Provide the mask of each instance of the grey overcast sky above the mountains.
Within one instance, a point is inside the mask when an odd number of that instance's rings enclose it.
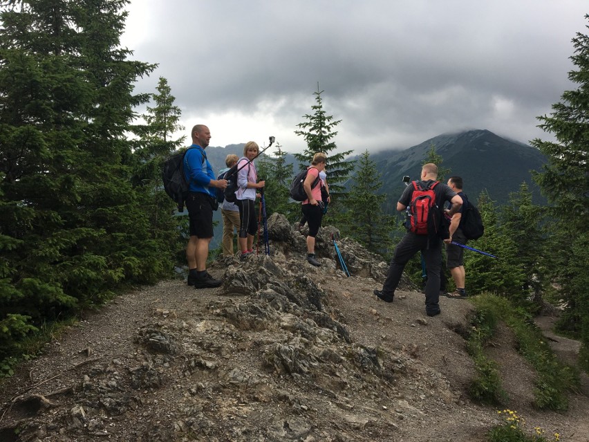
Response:
[[[159,64],[182,122],[212,146],[276,137],[290,153],[317,83],[340,151],[489,129],[521,142],[573,89],[587,0],[131,0],[122,46]],[[182,133],[183,134],[183,133]],[[178,134],[180,136],[180,133]]]

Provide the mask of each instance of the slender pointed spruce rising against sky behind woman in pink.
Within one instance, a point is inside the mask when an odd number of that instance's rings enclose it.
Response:
[[[317,84],[317,92],[313,93],[317,104],[311,107],[314,113],[303,116],[306,121],[297,125],[300,130],[294,131],[297,135],[302,136],[307,143],[303,154],[294,154],[294,157],[299,160],[299,170],[303,170],[310,165],[313,155],[317,152],[324,152],[327,155],[327,181],[333,201],[337,202],[342,197],[343,184],[354,169],[353,163],[344,160],[352,151],[335,153],[337,145],[335,145],[333,138],[337,135],[337,131],[334,129],[342,120],[334,120],[333,116],[326,114],[323,109],[321,93],[324,91],[319,91],[319,84]]]

